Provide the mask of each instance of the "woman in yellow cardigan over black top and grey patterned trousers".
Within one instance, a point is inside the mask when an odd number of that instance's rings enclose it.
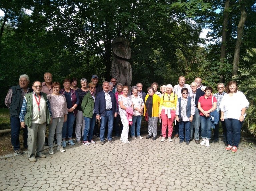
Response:
[[[144,116],[148,113],[148,136],[147,139],[152,137],[152,140],[157,139],[157,121],[158,121],[158,111],[160,104],[160,97],[155,94],[155,90],[152,87],[148,88],[148,94],[145,97],[144,105]]]

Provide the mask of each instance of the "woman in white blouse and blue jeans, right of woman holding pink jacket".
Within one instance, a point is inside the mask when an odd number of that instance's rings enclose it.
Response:
[[[137,138],[142,139],[143,137],[140,135],[140,126],[141,126],[141,119],[142,119],[142,115],[143,115],[144,102],[143,102],[142,97],[140,97],[138,95],[138,87],[137,86],[132,86],[131,92],[132,92],[132,95],[130,96],[130,98],[133,103],[131,137],[133,139],[136,139],[135,124],[137,124],[136,125]]]

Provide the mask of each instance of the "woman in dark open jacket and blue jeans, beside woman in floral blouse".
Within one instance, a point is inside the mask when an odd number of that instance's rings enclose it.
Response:
[[[73,125],[75,122],[76,114],[77,114],[77,106],[79,104],[79,95],[77,91],[70,89],[71,81],[70,79],[65,79],[63,82],[64,88],[60,90],[60,93],[63,94],[67,101],[68,107],[68,115],[67,121],[63,124],[62,127],[62,143],[63,147],[67,146],[67,143],[70,145],[75,145],[72,140],[72,133],[73,133]],[[68,141],[66,142],[66,137],[68,137]]]

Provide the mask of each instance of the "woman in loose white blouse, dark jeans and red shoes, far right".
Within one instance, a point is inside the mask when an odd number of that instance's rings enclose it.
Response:
[[[225,121],[228,146],[226,150],[237,152],[241,137],[241,127],[245,118],[245,111],[249,106],[243,92],[238,91],[235,81],[230,81],[225,88],[227,92],[220,103],[221,121]]]

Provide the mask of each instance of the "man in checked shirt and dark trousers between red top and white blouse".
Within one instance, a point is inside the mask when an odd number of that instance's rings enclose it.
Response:
[[[217,99],[217,111],[219,112],[219,118],[221,116],[220,111],[220,103],[222,101],[222,98],[226,92],[224,92],[225,84],[224,83],[218,83],[217,90],[218,93],[213,94],[214,97]],[[219,120],[218,124],[215,125],[215,128],[213,129],[213,140],[211,143],[217,143],[219,142],[219,123],[221,120]],[[224,121],[221,121],[222,131],[223,131],[223,142],[227,146],[227,129]]]

